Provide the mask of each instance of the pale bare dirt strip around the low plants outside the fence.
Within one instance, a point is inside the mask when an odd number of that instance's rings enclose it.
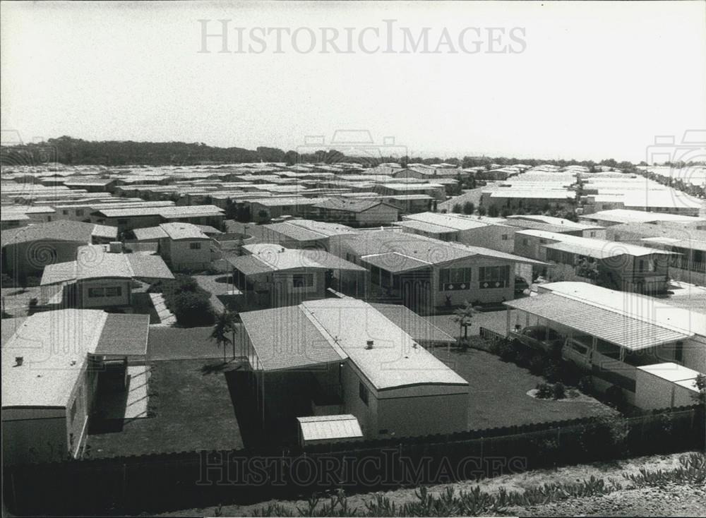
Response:
[[[669,455],[652,455],[649,457],[636,457],[634,459],[620,460],[609,463],[579,464],[578,466],[566,466],[557,469],[539,469],[528,471],[527,473],[515,475],[503,475],[495,478],[488,478],[481,481],[466,481],[455,484],[443,484],[431,486],[429,492],[435,495],[440,494],[447,486],[452,486],[455,490],[469,490],[474,486],[480,486],[481,490],[489,493],[505,488],[509,491],[522,491],[535,486],[542,486],[544,483],[582,481],[591,476],[596,478],[609,478],[618,481],[623,486],[628,486],[630,481],[623,474],[638,474],[640,468],[648,470],[674,469],[679,466],[679,457],[683,453]],[[364,493],[360,495],[350,495],[348,498],[349,508],[365,508],[365,502],[371,500],[377,493]],[[414,489],[397,489],[383,493],[395,504],[400,505],[415,499]],[[222,516],[251,516],[253,513],[266,507],[275,501],[261,502],[256,505],[247,506],[223,506]],[[280,505],[292,510],[296,515],[296,508],[306,508],[304,500],[299,501],[279,501]],[[215,507],[205,509],[193,509],[165,513],[162,516],[179,516],[182,514],[196,514],[199,516],[215,516]],[[671,486],[665,488],[641,488],[619,490],[616,493],[602,497],[575,498],[554,504],[532,506],[528,508],[512,507],[506,510],[508,516],[705,516],[706,515],[706,491],[699,488],[687,488],[684,486]]]

